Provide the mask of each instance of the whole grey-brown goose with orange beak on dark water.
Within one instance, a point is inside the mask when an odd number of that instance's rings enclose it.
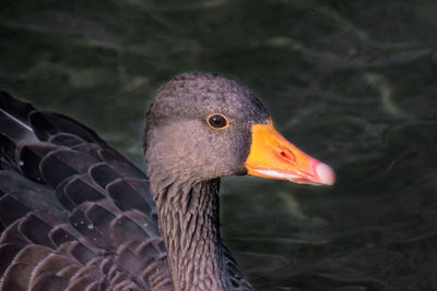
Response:
[[[251,290],[220,235],[220,178],[335,180],[220,74],[157,90],[147,174],[91,129],[5,92],[0,118],[1,291]]]

